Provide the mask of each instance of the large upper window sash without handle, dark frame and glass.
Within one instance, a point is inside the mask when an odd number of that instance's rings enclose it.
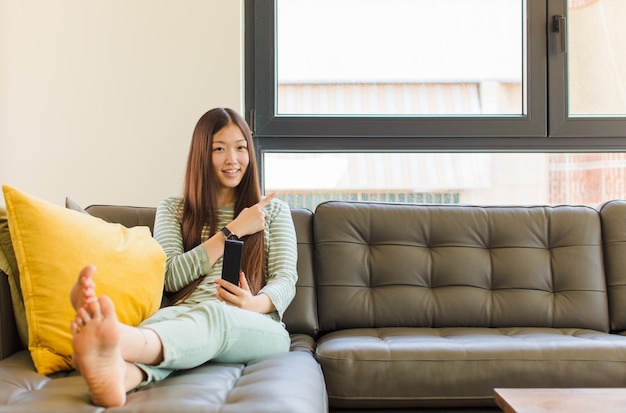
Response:
[[[546,137],[540,1],[246,6],[246,104],[260,140]]]

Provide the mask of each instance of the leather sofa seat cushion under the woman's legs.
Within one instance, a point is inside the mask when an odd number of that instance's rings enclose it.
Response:
[[[20,412],[102,412],[76,372],[38,374],[27,351],[0,361],[0,406]],[[207,363],[128,395],[116,412],[326,412],[313,356],[292,351],[249,365]],[[4,410],[2,410],[4,411]]]

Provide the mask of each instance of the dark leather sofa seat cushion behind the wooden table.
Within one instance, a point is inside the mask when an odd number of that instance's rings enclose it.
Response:
[[[583,329],[365,328],[321,337],[331,407],[493,404],[496,387],[626,387],[626,337]]]

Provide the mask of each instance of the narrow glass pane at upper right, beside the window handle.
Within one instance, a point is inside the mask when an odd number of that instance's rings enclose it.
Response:
[[[568,1],[570,116],[626,115],[626,1]]]

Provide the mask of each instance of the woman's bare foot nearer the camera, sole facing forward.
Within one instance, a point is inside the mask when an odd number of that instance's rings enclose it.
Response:
[[[120,351],[120,325],[111,299],[102,296],[79,307],[72,336],[74,363],[87,382],[93,403],[104,407],[124,405],[126,363]]]

